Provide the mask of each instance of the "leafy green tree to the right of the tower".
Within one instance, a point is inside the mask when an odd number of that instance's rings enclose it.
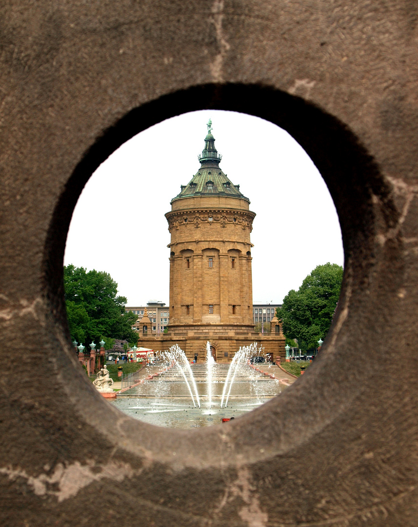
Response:
[[[306,351],[325,339],[337,306],[343,280],[343,268],[337,264],[317,266],[305,278],[298,291],[292,289],[277,308],[283,321],[283,333],[297,339],[299,348]]]

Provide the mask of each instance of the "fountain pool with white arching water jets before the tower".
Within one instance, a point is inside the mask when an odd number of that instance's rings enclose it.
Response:
[[[217,364],[208,341],[205,363],[191,366],[176,344],[159,354],[165,369],[125,389],[114,404],[132,417],[169,427],[209,426],[238,417],[278,395],[283,386],[250,364],[261,354],[263,348],[253,343],[240,347],[230,364]]]

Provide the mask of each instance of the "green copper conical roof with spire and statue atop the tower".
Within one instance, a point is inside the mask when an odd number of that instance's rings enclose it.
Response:
[[[215,148],[215,138],[212,135],[212,121],[210,119],[207,126],[208,134],[205,138],[205,148],[201,155],[198,155],[200,169],[186,186],[181,186],[181,192],[171,200],[171,203],[181,198],[213,195],[245,199],[249,203],[249,199],[239,191],[239,185],[234,185],[219,168],[222,156],[218,154]]]

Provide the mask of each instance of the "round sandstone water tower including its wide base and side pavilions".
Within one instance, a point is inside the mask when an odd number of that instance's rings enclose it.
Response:
[[[200,362],[209,340],[215,360],[228,363],[241,346],[257,341],[270,359],[285,356],[283,331],[274,314],[271,319],[274,306],[266,308],[271,333],[254,331],[250,232],[256,214],[219,167],[210,120],[199,161],[199,170],[181,186],[166,214],[171,234],[168,333],[150,333],[155,323],[147,306],[137,323],[138,346],[164,350],[177,343]]]

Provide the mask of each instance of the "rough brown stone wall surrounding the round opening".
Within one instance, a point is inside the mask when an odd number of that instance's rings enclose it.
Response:
[[[1,524],[415,526],[416,3],[9,0],[0,21],[0,349],[24,335],[27,351],[0,376]],[[345,276],[303,378],[228,426],[174,431],[120,414],[80,372],[62,263],[92,171],[203,108],[305,148]]]

